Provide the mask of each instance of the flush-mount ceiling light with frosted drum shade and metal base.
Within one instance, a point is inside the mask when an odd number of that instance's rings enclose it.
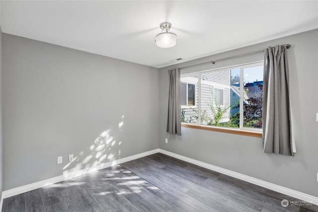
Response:
[[[173,47],[177,43],[177,35],[169,32],[171,28],[171,23],[169,22],[162,22],[160,23],[160,29],[165,32],[161,32],[156,35],[155,42],[157,46],[161,48],[170,48]]]

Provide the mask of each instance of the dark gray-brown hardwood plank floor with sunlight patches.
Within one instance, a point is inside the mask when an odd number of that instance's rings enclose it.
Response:
[[[2,212],[318,212],[289,196],[153,154],[3,200]]]

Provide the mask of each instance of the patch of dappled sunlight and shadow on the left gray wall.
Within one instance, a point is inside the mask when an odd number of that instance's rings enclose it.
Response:
[[[87,147],[87,150],[80,151],[72,161],[64,166],[63,175],[79,170],[82,170],[84,174],[87,168],[119,159],[122,141],[117,141],[114,135],[119,135],[123,131],[123,126],[124,115],[120,118],[118,127],[106,129]]]

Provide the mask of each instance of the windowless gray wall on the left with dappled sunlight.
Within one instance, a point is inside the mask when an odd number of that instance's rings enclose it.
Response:
[[[158,69],[8,34],[2,49],[4,191],[158,148]]]

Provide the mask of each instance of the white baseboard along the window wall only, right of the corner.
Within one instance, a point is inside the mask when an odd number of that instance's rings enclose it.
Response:
[[[231,176],[231,177],[235,177],[237,179],[246,181],[248,183],[252,183],[252,184],[255,184],[257,186],[261,186],[263,188],[267,188],[267,189],[270,189],[272,191],[276,191],[276,192],[279,192],[279,193],[282,193],[282,194],[297,198],[299,200],[303,200],[303,201],[307,201],[307,202],[312,201],[313,204],[318,205],[318,197],[315,197],[315,196],[312,196],[312,195],[308,195],[308,194],[305,194],[305,193],[302,193],[302,192],[299,192],[299,191],[295,191],[295,190],[292,190],[292,189],[289,189],[289,188],[286,188],[286,187],[283,187],[283,186],[279,186],[279,185],[276,185],[276,184],[273,184],[273,183],[269,183],[269,182],[266,182],[266,181],[263,181],[263,180],[259,180],[257,178],[250,177],[250,176],[247,176],[247,175],[244,175],[244,174],[240,174],[240,173],[235,172],[235,171],[231,171],[231,170],[224,169],[224,168],[221,168],[221,167],[218,167],[218,166],[214,166],[214,165],[211,165],[211,164],[208,164],[208,163],[204,163],[204,162],[201,162],[199,160],[194,160],[192,158],[185,157],[185,156],[182,156],[182,155],[179,155],[179,154],[175,154],[173,152],[169,152],[169,151],[166,151],[166,150],[163,150],[163,149],[159,149],[159,152],[162,153],[162,154],[166,154],[168,156],[171,156],[171,157],[174,157],[174,158],[177,158],[177,159],[180,159],[180,160],[183,160],[183,161],[186,161],[186,162],[189,162],[189,163],[192,163],[192,164],[195,164],[195,165],[210,169],[212,171],[216,171],[216,172],[219,172],[219,173]]]

